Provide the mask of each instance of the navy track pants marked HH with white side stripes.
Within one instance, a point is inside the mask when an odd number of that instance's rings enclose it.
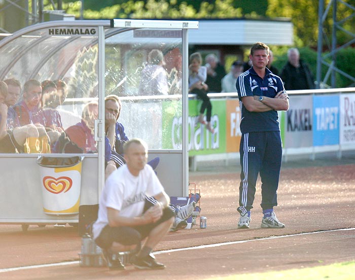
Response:
[[[277,187],[280,176],[282,144],[279,131],[243,133],[239,147],[240,186],[239,213],[253,208],[258,174],[261,178],[261,207],[277,206]]]

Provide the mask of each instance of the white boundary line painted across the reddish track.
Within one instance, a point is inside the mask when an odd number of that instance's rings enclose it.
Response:
[[[154,252],[154,255],[179,252],[179,251],[187,251],[187,250],[214,248],[214,247],[239,244],[239,243],[246,243],[246,242],[252,242],[252,241],[260,241],[260,240],[268,240],[268,239],[276,239],[276,238],[284,238],[284,237],[293,237],[293,236],[298,236],[298,235],[325,233],[325,232],[333,232],[333,231],[348,231],[348,230],[355,230],[355,228],[342,228],[342,229],[322,230],[322,231],[313,231],[313,232],[302,232],[302,233],[296,233],[296,234],[290,234],[290,235],[280,235],[280,236],[262,237],[262,238],[250,239],[250,240],[230,241],[230,242],[223,242],[223,243],[216,243],[216,244],[201,245],[201,246],[196,246],[196,247],[158,251],[158,252]],[[20,267],[12,267],[12,268],[2,268],[2,269],[0,269],[0,273],[17,271],[17,270],[24,270],[24,269],[43,268],[43,267],[51,267],[51,266],[63,266],[63,265],[72,265],[72,264],[79,264],[79,261],[40,264],[40,265],[29,265],[29,266],[20,266]]]

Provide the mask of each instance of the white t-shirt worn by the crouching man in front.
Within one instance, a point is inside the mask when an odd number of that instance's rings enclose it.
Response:
[[[107,207],[117,209],[123,217],[138,217],[143,214],[146,196],[155,196],[163,191],[163,186],[148,164],[138,176],[133,176],[127,165],[115,170],[106,180],[101,193],[98,217],[93,225],[94,239],[109,223]]]

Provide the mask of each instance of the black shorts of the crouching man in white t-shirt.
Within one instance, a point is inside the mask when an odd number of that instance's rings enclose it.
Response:
[[[154,205],[154,203],[146,200],[144,212],[146,212],[152,205]],[[152,224],[135,227],[110,227],[107,225],[101,230],[100,235],[95,239],[95,242],[102,249],[109,249],[113,242],[118,242],[125,246],[138,244],[141,240],[146,238],[156,226],[174,216],[175,213],[172,209],[166,207],[163,209],[163,216],[157,222]]]

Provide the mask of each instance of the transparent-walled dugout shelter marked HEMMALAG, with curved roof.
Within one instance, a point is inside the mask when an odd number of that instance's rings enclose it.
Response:
[[[0,41],[0,80],[21,85],[63,80],[68,95],[58,107],[63,127],[81,120],[83,106],[98,102],[97,153],[0,154],[0,223],[77,223],[78,214],[43,211],[39,156],[82,160],[80,204],[97,204],[104,185],[104,97],[122,101],[119,121],[129,138],[144,139],[149,159],[160,158],[158,177],[170,196],[188,193],[188,30],[197,21],[77,20],[27,26]],[[168,92],[138,92],[140,73],[153,49],[164,55]]]

